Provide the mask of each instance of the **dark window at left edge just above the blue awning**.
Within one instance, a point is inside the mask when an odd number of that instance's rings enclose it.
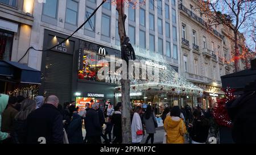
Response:
[[[13,49],[13,34],[0,29],[0,60],[11,60]]]

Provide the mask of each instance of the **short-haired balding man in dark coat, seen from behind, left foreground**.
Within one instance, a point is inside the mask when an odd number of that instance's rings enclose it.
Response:
[[[55,95],[47,98],[41,108],[27,117],[27,143],[63,144],[63,116],[57,110],[59,99]]]

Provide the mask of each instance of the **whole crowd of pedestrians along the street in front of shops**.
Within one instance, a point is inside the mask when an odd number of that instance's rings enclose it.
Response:
[[[121,144],[122,103],[117,103],[114,108],[112,106],[109,103],[102,110],[100,104],[92,100],[79,110],[74,101],[65,102],[62,107],[55,95],[46,99],[38,96],[33,100],[1,94],[0,143],[101,144],[102,137],[103,143]],[[189,133],[192,143],[206,143],[209,121],[200,108],[167,107],[162,119],[165,131],[163,143],[183,144],[186,133]],[[86,130],[85,136],[82,128]],[[137,106],[131,111],[132,143],[142,143],[147,133],[145,143],[150,141],[153,144],[156,128],[158,123],[150,105],[147,108]]]

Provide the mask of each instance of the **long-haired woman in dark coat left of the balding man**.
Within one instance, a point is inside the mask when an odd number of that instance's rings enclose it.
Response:
[[[25,99],[21,104],[20,111],[14,118],[13,140],[20,144],[26,141],[26,120],[27,116],[36,109],[36,102],[32,99]]]

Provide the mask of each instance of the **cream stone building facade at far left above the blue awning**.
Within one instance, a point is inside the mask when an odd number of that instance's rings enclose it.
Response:
[[[0,60],[19,61],[30,47],[34,1],[0,0]],[[28,55],[22,60],[28,64]]]

